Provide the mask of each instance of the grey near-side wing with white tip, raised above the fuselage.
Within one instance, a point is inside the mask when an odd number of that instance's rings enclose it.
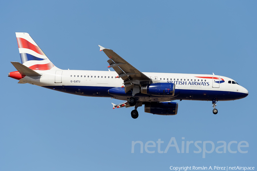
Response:
[[[105,54],[110,58],[107,62],[110,64],[108,67],[113,68],[117,74],[124,80],[125,92],[128,92],[130,89],[138,89],[135,90],[135,93],[139,92],[139,86],[134,85],[142,85],[142,84],[150,84],[152,83],[152,79],[144,75],[142,72],[137,70],[123,58],[121,58],[117,53],[115,53],[111,49],[104,48],[100,46],[100,51],[104,51]]]

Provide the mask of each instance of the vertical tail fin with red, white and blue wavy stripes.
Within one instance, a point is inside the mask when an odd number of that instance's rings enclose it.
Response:
[[[32,70],[59,69],[47,58],[28,33],[16,32],[21,63]]]

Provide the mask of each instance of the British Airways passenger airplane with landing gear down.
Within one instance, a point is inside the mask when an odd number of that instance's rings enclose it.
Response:
[[[91,97],[111,97],[124,100],[113,109],[134,107],[131,117],[138,117],[137,108],[144,105],[146,113],[176,115],[178,103],[174,100],[212,101],[216,103],[242,99],[247,89],[235,80],[206,74],[175,74],[140,72],[113,50],[104,48],[109,58],[108,68],[115,71],[62,70],[57,68],[28,33],[16,32],[21,63],[11,62],[17,71],[9,77],[19,84],[29,83],[55,91]]]

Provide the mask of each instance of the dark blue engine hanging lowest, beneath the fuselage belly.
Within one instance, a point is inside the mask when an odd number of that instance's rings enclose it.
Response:
[[[147,103],[144,105],[144,112],[156,115],[176,115],[178,112],[178,103],[159,102]]]

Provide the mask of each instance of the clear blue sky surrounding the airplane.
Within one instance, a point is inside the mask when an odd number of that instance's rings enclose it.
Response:
[[[170,170],[170,166],[256,167],[256,1],[2,1],[0,170]],[[7,77],[21,62],[15,32],[28,32],[61,69],[107,71],[100,44],[141,72],[214,74],[249,95],[236,101],[176,101],[175,116],[112,109],[111,98],[82,97]],[[175,137],[180,153],[132,141]],[[182,140],[182,137],[185,137]],[[247,141],[248,153],[202,158],[182,141]],[[151,144],[149,144],[151,145]],[[156,143],[157,145],[157,143]],[[203,143],[198,144],[203,149]],[[207,150],[211,145],[207,144]],[[220,149],[222,151],[222,149]]]

